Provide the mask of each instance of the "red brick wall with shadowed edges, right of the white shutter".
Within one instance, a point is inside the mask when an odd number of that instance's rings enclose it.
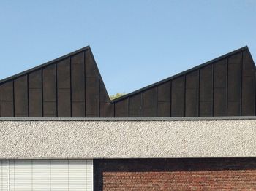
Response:
[[[256,190],[256,159],[94,160],[94,190]]]

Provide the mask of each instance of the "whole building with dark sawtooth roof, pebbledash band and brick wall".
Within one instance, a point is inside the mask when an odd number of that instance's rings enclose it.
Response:
[[[110,101],[90,47],[0,81],[0,190],[256,190],[248,47]]]

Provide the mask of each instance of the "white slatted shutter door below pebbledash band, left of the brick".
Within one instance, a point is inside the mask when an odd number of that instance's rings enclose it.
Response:
[[[93,190],[92,160],[0,160],[0,190]]]

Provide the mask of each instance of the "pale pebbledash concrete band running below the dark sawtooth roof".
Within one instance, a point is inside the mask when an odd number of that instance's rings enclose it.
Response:
[[[256,120],[2,120],[0,143],[0,159],[256,157]]]

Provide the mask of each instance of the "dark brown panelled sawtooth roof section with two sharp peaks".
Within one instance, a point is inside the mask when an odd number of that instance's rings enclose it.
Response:
[[[0,81],[1,117],[255,115],[248,47],[110,101],[90,47]]]

